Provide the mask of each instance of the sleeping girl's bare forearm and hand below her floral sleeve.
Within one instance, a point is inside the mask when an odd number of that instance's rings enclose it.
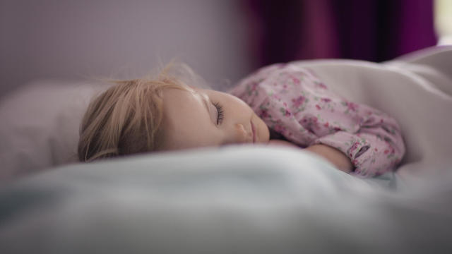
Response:
[[[290,147],[298,147],[298,145],[294,145],[290,142],[287,142],[285,140],[270,140],[268,142],[268,145],[285,145]],[[335,167],[337,167],[339,170],[344,171],[345,173],[350,173],[353,169],[352,162],[350,162],[350,159],[339,150],[328,146],[328,145],[311,145],[306,148],[309,152],[314,152],[317,155],[320,155],[321,157],[328,160],[328,162],[331,162]]]

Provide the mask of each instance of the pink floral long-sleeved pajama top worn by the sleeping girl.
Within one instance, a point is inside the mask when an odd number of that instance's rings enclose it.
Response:
[[[270,138],[276,135],[301,147],[335,147],[350,158],[357,176],[394,170],[405,153],[395,119],[336,95],[307,68],[267,66],[241,80],[231,93],[263,119]]]

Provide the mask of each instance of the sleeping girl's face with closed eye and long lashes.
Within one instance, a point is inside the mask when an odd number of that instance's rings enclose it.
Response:
[[[241,99],[194,88],[163,91],[163,150],[268,143],[266,124]]]

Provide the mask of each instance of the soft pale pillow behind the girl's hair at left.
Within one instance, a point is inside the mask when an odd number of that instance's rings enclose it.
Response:
[[[42,80],[0,103],[0,179],[75,162],[78,128],[90,98],[103,85]]]

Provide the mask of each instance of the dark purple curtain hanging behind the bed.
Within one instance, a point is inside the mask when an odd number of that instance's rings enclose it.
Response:
[[[385,61],[436,44],[433,0],[246,0],[257,66],[297,59]]]

